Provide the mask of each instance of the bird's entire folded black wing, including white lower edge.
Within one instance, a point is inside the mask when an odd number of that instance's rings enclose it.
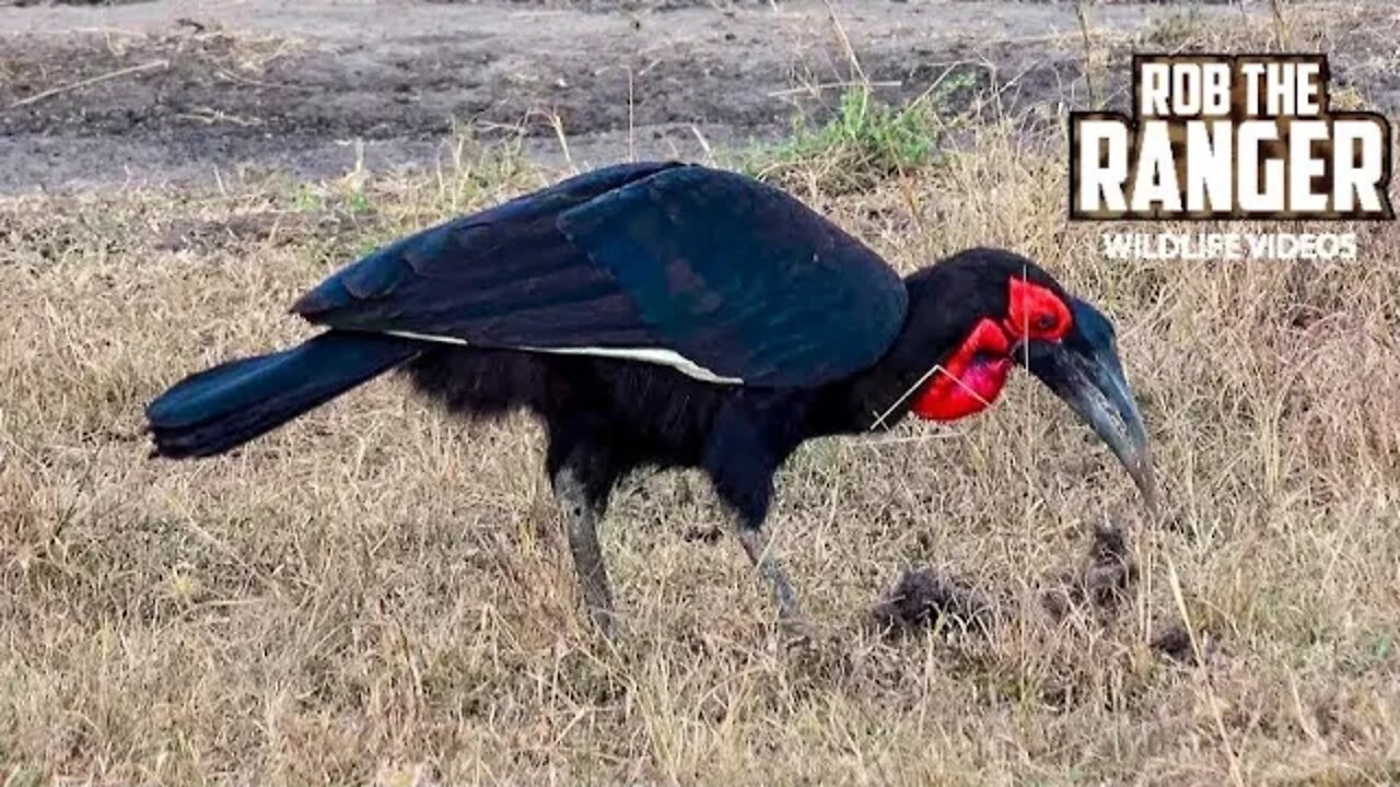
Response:
[[[295,311],[333,328],[813,386],[878,360],[906,305],[879,256],[781,190],[629,164],[398,241]]]

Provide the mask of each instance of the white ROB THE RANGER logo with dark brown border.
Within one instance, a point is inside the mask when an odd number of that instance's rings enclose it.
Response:
[[[1324,55],[1134,56],[1131,118],[1070,116],[1070,218],[1394,218],[1390,126],[1331,109],[1329,85]],[[1207,241],[1277,256],[1271,238]]]

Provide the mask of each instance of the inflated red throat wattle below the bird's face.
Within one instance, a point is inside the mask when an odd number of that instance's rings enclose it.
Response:
[[[1011,340],[991,319],[983,319],[934,372],[914,399],[914,415],[949,422],[986,409],[1001,395],[1011,374]]]

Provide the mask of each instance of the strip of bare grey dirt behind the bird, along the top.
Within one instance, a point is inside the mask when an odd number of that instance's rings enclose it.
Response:
[[[522,134],[559,160],[557,116],[580,165],[633,151],[696,157],[781,133],[795,113],[820,116],[853,77],[822,3],[592,6],[0,7],[0,193],[213,182],[241,167],[329,176],[354,165],[356,140],[371,168],[424,165],[454,120]],[[1008,87],[1012,108],[1082,90],[1067,4],[833,7],[889,99],[949,73],[958,78],[944,84]],[[1128,35],[1170,13],[1106,6],[1095,24]]]

